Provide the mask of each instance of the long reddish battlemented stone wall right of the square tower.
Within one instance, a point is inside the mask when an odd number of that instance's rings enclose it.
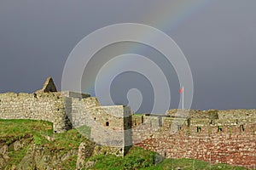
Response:
[[[168,158],[193,158],[253,167],[256,165],[256,119],[253,114],[249,117],[230,115],[230,119],[213,121],[190,118],[182,119],[183,123],[180,124],[174,117],[158,116],[158,119],[162,119],[158,128],[153,128],[150,122],[137,123],[133,127],[133,142]],[[154,116],[154,119],[157,118]],[[153,118],[148,116],[148,119]],[[176,128],[177,132],[172,133],[171,127]]]

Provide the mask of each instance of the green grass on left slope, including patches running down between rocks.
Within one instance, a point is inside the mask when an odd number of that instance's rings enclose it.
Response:
[[[37,144],[45,148],[45,153],[58,153],[59,156],[66,154],[70,150],[78,150],[79,144],[85,142],[93,145],[85,139],[76,129],[65,133],[53,134],[52,123],[32,120],[1,120],[0,119],[0,142],[9,145],[9,162],[7,169],[12,165],[17,165],[26,155],[30,144]],[[46,136],[53,139],[49,141]],[[14,150],[14,142],[21,140],[26,143],[20,150]],[[61,167],[75,167],[77,157],[63,162]],[[73,169],[67,168],[67,169]],[[62,168],[63,169],[63,168]]]

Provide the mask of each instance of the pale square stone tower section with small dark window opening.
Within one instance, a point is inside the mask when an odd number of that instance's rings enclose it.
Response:
[[[130,107],[102,106],[96,98],[81,98],[81,95],[74,93],[63,95],[67,116],[73,127],[97,144],[116,148],[116,155],[125,155],[125,146],[132,144],[131,125],[125,123],[131,119]]]

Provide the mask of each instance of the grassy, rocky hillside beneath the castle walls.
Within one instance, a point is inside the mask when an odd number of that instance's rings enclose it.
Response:
[[[82,142],[87,155],[82,169],[244,169],[191,159],[164,159],[138,147],[118,157],[99,150],[101,146],[76,129],[58,134],[52,131],[50,122],[0,120],[0,169],[75,169]]]

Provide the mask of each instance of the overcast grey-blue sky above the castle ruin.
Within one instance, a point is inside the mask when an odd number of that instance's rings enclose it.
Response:
[[[78,42],[104,26],[139,23],[165,32],[183,51],[194,82],[192,109],[253,109],[255,7],[255,0],[1,1],[0,93],[33,93],[43,86],[46,77],[53,77],[61,90],[64,65]],[[164,63],[152,48],[129,42],[102,48],[96,55],[116,51],[151,55],[154,62]],[[84,93],[95,95],[83,87],[85,76],[86,71],[81,82]],[[125,72],[119,76],[111,88],[116,104],[127,104],[123,97],[128,88],[137,86],[142,94],[144,88],[152,89],[143,75]],[[177,108],[180,85],[173,68],[166,78],[172,91],[170,108]],[[129,84],[127,79],[136,83]],[[146,90],[143,98],[139,112],[152,108],[154,94],[148,95]]]

